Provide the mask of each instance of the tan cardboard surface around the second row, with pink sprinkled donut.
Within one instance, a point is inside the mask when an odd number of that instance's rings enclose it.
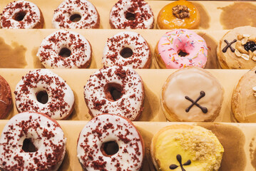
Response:
[[[0,29],[0,68],[43,68],[36,53],[43,38],[57,31],[56,29]],[[76,29],[85,36],[92,46],[92,61],[89,68],[102,68],[101,58],[106,41],[111,36],[124,30],[116,29]],[[168,30],[133,30],[140,33],[150,45],[151,53],[161,36]],[[208,62],[205,68],[220,68],[217,62],[217,43],[227,31],[195,30],[205,38],[208,45]],[[154,54],[150,68],[158,68]]]

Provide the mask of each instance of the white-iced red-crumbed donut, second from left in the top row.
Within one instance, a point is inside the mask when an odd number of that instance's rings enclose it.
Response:
[[[99,28],[98,11],[86,0],[65,0],[54,11],[53,28]]]

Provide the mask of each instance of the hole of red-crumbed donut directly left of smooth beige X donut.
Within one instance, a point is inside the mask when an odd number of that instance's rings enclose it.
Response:
[[[118,83],[108,83],[104,88],[106,98],[110,101],[116,101],[123,95],[123,87]]]

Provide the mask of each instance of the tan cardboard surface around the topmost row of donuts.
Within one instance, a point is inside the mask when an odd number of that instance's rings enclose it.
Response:
[[[3,11],[4,7],[13,0],[0,1],[0,11]],[[51,20],[53,19],[53,11],[58,7],[63,0],[30,0],[34,2],[43,13],[45,19],[44,28],[53,28]],[[109,13],[114,4],[118,0],[91,0],[91,3],[96,6],[98,13],[101,17],[100,28],[110,28],[109,25]],[[160,9],[163,6],[171,3],[172,1],[148,1],[153,14],[155,16],[155,28],[156,19]],[[252,16],[252,11],[255,9],[255,2],[232,2],[232,1],[193,1],[193,4],[198,7],[200,11],[200,29],[227,29],[234,28],[235,26],[256,26],[255,17]],[[233,16],[226,16],[227,10],[230,11]],[[246,15],[246,14],[248,15]],[[250,15],[249,15],[250,14]],[[237,22],[237,17],[241,20]],[[233,21],[235,19],[236,22]],[[232,21],[231,23],[228,20]]]

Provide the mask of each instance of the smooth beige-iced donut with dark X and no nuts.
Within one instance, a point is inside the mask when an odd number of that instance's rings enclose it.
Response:
[[[172,73],[163,85],[160,103],[170,121],[212,122],[220,114],[223,88],[208,71],[198,67]]]

